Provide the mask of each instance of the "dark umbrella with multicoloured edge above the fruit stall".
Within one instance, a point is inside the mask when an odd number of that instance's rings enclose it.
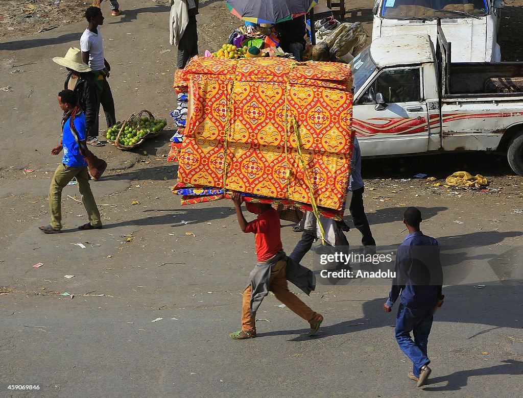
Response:
[[[319,0],[227,0],[232,15],[255,24],[277,24],[307,13]]]

